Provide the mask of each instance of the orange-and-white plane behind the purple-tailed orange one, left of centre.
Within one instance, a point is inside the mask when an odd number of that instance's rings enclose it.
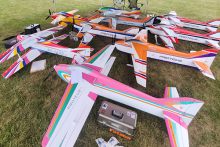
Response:
[[[77,37],[83,37],[79,46],[87,45],[96,35],[127,40],[134,38],[139,32],[139,28],[136,27],[131,27],[127,30],[119,31],[90,22],[74,24],[74,27],[79,31]]]

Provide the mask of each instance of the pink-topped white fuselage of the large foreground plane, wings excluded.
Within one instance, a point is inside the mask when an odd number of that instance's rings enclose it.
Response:
[[[194,108],[200,108],[201,101],[192,99],[192,98],[161,98],[157,99],[150,95],[147,95],[143,92],[140,92],[136,89],[133,89],[127,85],[124,85],[116,80],[113,80],[105,75],[100,74],[99,72],[82,65],[59,65],[60,67],[55,67],[55,70],[58,72],[59,76],[66,82],[70,81],[71,73],[73,70],[80,70],[83,74],[88,74],[95,79],[93,88],[91,92],[96,93],[97,95],[109,98],[111,100],[123,103],[125,105],[134,107],[136,109],[142,110],[144,112],[153,114],[155,116],[164,118],[163,111],[169,111],[174,114],[181,116],[181,118],[188,125],[193,119],[193,114],[186,113],[189,105],[193,104]],[[63,66],[63,67],[62,67]],[[67,78],[68,77],[68,78]]]

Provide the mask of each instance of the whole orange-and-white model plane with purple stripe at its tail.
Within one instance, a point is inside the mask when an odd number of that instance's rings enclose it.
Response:
[[[205,49],[198,52],[182,53],[147,42],[147,30],[131,40],[117,41],[115,46],[119,51],[131,54],[137,83],[146,87],[147,58],[179,65],[193,67],[203,75],[215,79],[210,66],[217,55],[217,50]]]

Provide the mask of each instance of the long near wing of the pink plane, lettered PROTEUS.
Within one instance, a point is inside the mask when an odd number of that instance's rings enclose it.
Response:
[[[89,75],[87,75],[89,76]],[[97,98],[92,84],[69,82],[43,138],[43,147],[73,146]]]

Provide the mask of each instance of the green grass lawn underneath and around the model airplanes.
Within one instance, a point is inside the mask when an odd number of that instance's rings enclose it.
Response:
[[[144,3],[144,0],[139,2]],[[209,21],[220,18],[218,0],[150,0],[148,13],[157,15],[167,14],[175,10],[179,16]],[[105,0],[104,6],[110,6],[112,1]],[[95,0],[57,0],[57,11],[69,11],[79,9],[77,14],[83,17],[91,17],[94,11],[100,7],[100,1]],[[48,16],[48,9],[54,10],[51,1],[28,0],[1,0],[0,5],[0,40],[15,35],[32,23],[39,23],[42,29],[52,27]],[[142,13],[144,8],[142,8]],[[142,18],[146,15],[142,14]],[[57,35],[68,33],[68,26]],[[193,30],[195,31],[195,30]],[[201,32],[201,31],[196,31]],[[201,32],[204,33],[204,32]],[[152,36],[151,42],[154,42]],[[0,54],[6,51],[0,42]],[[105,45],[110,44],[111,39],[95,37],[89,44],[99,51]],[[77,47],[79,42],[70,41],[68,38],[60,43],[71,48]],[[202,50],[207,47],[195,43],[183,42],[175,44],[179,51]],[[118,80],[135,89],[154,97],[163,97],[167,86],[177,87],[181,97],[192,97],[205,102],[202,109],[189,125],[190,146],[219,146],[220,141],[220,56],[217,55],[211,70],[216,80],[209,79],[199,71],[148,59],[147,88],[136,83],[133,68],[127,67],[127,55],[115,50],[114,66],[109,77]],[[59,101],[67,87],[56,74],[53,74],[46,82],[42,82],[49,71],[56,64],[56,57],[52,54],[42,54],[36,60],[47,59],[47,68],[44,71],[30,74],[30,65],[27,65],[9,79],[0,78],[0,146],[40,146],[47,127],[54,115]],[[0,65],[0,73],[3,73],[15,60],[14,57]],[[58,63],[68,64],[71,59],[58,57]],[[75,144],[77,147],[97,146],[95,139],[102,137],[106,141],[115,136],[120,145],[127,146],[170,146],[166,125],[163,119],[141,112],[110,100],[115,104],[132,109],[138,113],[137,129],[132,141],[125,140],[113,133],[109,133],[97,126],[97,111],[103,100],[98,97],[92,111]]]

